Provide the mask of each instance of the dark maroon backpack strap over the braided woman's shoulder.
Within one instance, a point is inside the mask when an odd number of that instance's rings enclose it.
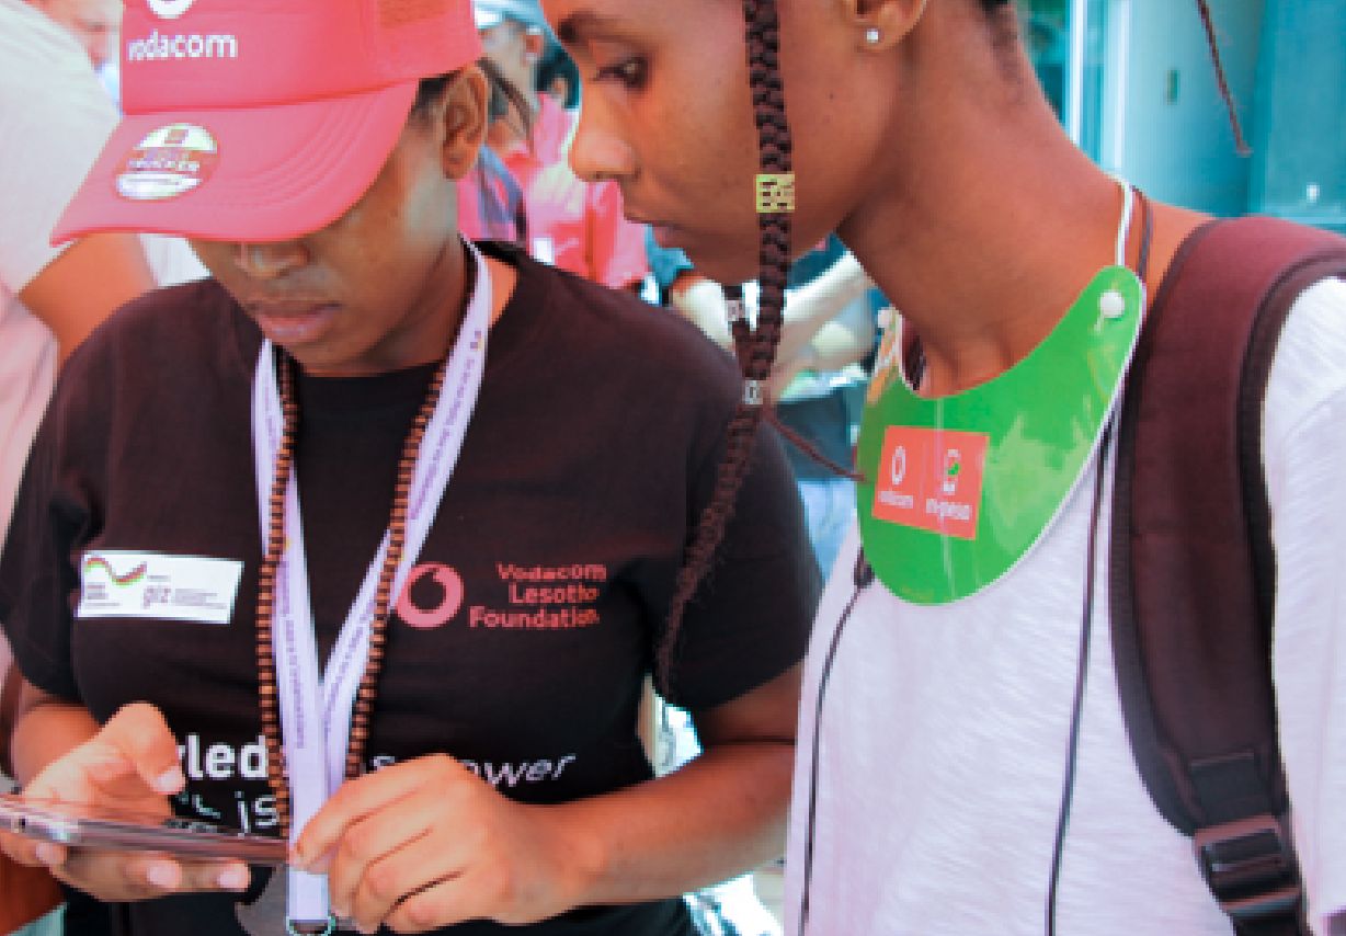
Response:
[[[1151,799],[1248,936],[1304,932],[1261,419],[1289,307],[1333,275],[1346,238],[1272,218],[1197,229],[1147,314],[1120,415],[1109,578],[1127,733]]]

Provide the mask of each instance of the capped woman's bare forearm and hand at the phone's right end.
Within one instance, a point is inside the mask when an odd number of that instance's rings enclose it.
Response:
[[[362,932],[534,923],[575,906],[676,898],[781,854],[797,664],[693,712],[704,746],[674,773],[557,805],[514,803],[446,754],[345,784],[291,863],[327,874]]]

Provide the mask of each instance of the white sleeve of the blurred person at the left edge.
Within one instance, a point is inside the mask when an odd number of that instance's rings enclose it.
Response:
[[[83,50],[19,0],[0,0],[0,283],[19,292],[61,248],[51,229],[117,112]]]

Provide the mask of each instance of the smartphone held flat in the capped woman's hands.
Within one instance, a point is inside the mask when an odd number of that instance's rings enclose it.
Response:
[[[105,807],[24,800],[0,795],[0,830],[71,848],[163,851],[178,858],[232,858],[249,865],[285,863],[285,842],[176,816]]]

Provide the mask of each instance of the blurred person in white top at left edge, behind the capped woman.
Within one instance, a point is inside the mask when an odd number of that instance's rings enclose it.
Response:
[[[135,234],[50,242],[117,120],[90,65],[106,61],[120,13],[116,0],[0,0],[0,532],[9,525],[58,368],[114,308],[155,286]],[[0,640],[5,787],[8,725],[20,686],[11,671],[9,645]],[[0,867],[4,932],[52,894],[50,881],[17,874]]]

